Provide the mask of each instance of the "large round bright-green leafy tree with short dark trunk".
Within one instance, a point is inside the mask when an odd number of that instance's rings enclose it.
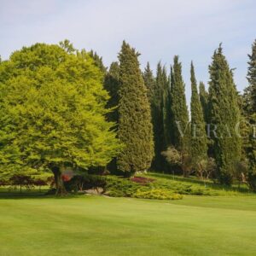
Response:
[[[85,51],[34,44],[0,64],[0,171],[54,173],[106,166],[119,150],[102,72]]]

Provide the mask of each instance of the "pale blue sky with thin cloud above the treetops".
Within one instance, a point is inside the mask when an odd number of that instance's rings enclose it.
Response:
[[[256,39],[255,0],[0,0],[0,55],[35,43],[69,39],[94,49],[109,67],[125,39],[141,53],[143,69],[158,61],[183,63],[189,101],[189,66],[206,84],[214,49],[222,43],[238,90],[247,86],[247,54]]]

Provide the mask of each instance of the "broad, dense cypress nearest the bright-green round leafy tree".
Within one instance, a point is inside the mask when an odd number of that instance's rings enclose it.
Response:
[[[148,170],[154,156],[150,106],[138,55],[135,49],[123,42],[119,53],[118,134],[125,148],[118,157],[118,167],[126,175]]]

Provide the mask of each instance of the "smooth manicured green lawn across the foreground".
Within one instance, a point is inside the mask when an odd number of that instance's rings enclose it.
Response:
[[[0,199],[0,255],[255,255],[256,196]]]

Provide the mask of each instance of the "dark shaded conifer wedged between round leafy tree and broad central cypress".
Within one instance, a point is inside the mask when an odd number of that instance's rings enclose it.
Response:
[[[104,79],[104,89],[108,91],[110,96],[107,108],[114,108],[111,113],[108,113],[108,120],[115,122],[118,125],[119,121],[119,63],[113,62],[109,67],[109,71]]]

